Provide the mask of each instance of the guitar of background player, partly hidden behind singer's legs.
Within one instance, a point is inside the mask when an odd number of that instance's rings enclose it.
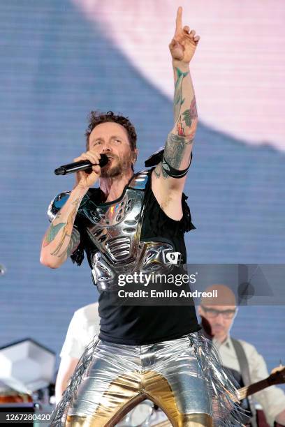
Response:
[[[258,382],[254,382],[254,384],[250,384],[248,386],[242,387],[237,390],[237,396],[231,394],[231,398],[234,402],[238,403],[240,400],[247,398],[247,396],[251,396],[251,394],[257,393],[257,391],[261,391],[270,387],[272,385],[284,384],[285,383],[285,366],[277,366],[277,368],[272,369],[269,377],[265,378],[265,380],[261,380]],[[226,390],[228,393],[228,390]],[[152,427],[171,427],[172,424],[170,421],[161,421],[159,424],[153,424]]]

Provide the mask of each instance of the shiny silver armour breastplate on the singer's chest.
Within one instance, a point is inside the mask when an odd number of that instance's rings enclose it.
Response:
[[[96,205],[89,201],[81,213],[88,219],[92,253],[92,277],[98,290],[117,289],[117,276],[134,271],[151,272],[171,267],[166,253],[173,246],[140,241],[147,171],[136,174],[119,202]]]

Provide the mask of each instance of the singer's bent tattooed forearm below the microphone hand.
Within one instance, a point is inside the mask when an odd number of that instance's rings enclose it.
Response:
[[[86,189],[74,188],[43,237],[41,264],[56,269],[80,243],[80,233],[73,227],[76,213]]]

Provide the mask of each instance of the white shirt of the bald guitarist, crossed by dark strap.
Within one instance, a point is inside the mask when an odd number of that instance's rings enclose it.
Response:
[[[251,345],[244,340],[239,341],[242,344],[249,362],[249,375],[251,384],[267,378],[269,375],[268,368],[261,354],[257,352],[254,345]],[[226,338],[223,343],[219,343],[214,338],[213,343],[219,352],[222,364],[226,368],[235,369],[240,373],[240,365],[235,354],[231,337]],[[256,402],[258,402],[263,407],[268,424],[273,426],[275,417],[277,417],[277,415],[285,409],[284,391],[278,387],[271,386],[267,389],[258,391],[258,393],[255,393],[252,396],[254,397],[254,400],[256,400]]]

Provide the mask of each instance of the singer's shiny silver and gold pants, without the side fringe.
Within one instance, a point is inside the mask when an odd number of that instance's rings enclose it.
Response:
[[[148,398],[175,427],[212,426],[210,392],[188,337],[118,345],[99,341],[66,426],[115,426]]]

